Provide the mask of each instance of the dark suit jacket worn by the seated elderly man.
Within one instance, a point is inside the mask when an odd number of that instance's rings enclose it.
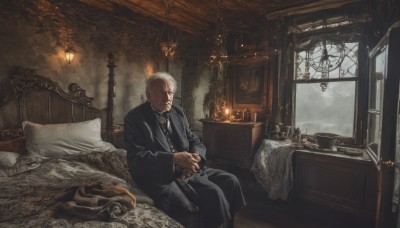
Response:
[[[200,154],[201,168],[206,161],[206,148],[190,129],[183,110],[172,106],[169,111],[171,127],[178,140],[178,151]],[[157,118],[148,102],[131,110],[124,119],[128,168],[136,183],[153,199],[169,191],[176,176],[173,153]],[[202,171],[201,171],[202,172]]]

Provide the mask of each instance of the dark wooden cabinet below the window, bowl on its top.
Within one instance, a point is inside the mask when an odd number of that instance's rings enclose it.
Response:
[[[363,157],[298,150],[294,153],[296,199],[374,218],[376,169]]]

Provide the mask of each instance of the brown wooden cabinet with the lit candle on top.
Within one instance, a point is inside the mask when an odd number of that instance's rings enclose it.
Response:
[[[250,169],[264,136],[261,122],[201,120],[207,159]]]

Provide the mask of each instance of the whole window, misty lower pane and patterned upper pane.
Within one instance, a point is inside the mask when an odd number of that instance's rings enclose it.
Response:
[[[294,126],[355,138],[358,42],[310,38],[295,50]]]

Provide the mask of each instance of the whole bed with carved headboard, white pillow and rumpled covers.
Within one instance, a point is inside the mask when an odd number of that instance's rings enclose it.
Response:
[[[0,227],[182,227],[135,185],[108,107],[16,67],[0,84]]]

